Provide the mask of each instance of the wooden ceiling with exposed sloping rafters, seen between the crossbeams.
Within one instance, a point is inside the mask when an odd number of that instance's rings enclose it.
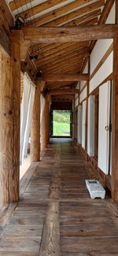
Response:
[[[14,0],[9,1],[13,16],[25,20],[24,27],[77,26],[79,24],[104,24],[112,8],[113,0]],[[79,74],[93,48],[92,42],[80,43],[36,43],[28,54],[33,58],[43,75]],[[76,82],[46,82],[50,90],[76,87]]]

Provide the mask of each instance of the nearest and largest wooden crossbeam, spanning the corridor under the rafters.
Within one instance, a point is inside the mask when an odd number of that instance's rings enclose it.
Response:
[[[112,39],[118,32],[118,25],[86,25],[65,28],[23,28],[24,40],[31,43],[83,42],[96,39]]]

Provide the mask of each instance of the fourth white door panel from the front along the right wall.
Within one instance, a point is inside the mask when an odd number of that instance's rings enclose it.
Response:
[[[82,143],[82,105],[78,106],[78,143]]]

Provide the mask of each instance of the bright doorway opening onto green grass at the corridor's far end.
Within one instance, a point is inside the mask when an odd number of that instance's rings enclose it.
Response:
[[[54,137],[72,137],[72,111],[53,110],[52,123]]]

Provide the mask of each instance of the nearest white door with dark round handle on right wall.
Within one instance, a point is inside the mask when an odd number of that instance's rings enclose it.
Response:
[[[99,88],[98,167],[109,173],[110,82]]]

